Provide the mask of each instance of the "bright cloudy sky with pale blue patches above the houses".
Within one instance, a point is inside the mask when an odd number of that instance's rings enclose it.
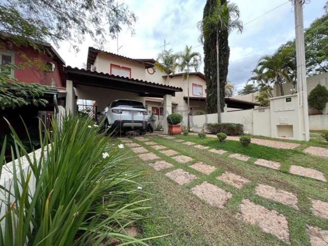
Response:
[[[168,48],[181,51],[186,45],[203,54],[198,43],[197,22],[202,18],[206,0],[125,0],[138,17],[134,26],[135,35],[124,29],[118,37],[120,55],[132,58],[156,58],[163,49],[164,39]],[[288,0],[232,0],[239,6],[244,23],[242,34],[232,33],[229,37],[231,48],[228,79],[240,90],[264,54],[273,53],[280,45],[295,37],[294,12]],[[309,1],[310,2],[310,1]],[[324,11],[326,0],[312,0],[304,7],[304,27],[308,27]],[[284,4],[285,3],[285,4]],[[258,16],[276,8],[268,14]],[[250,22],[250,23],[249,23]],[[68,43],[58,50],[67,65],[82,67],[86,63],[88,46],[92,40],[79,46],[75,54]],[[116,53],[117,42],[112,40],[105,50]],[[203,71],[203,66],[199,68]]]

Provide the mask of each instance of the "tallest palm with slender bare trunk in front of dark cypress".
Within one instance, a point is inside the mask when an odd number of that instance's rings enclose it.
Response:
[[[217,64],[217,120],[221,122],[221,101],[220,101],[220,68],[219,68],[219,36],[220,31],[233,30],[241,33],[243,26],[239,19],[239,8],[234,3],[225,3],[221,5],[220,0],[217,0],[213,12],[210,16],[206,16],[198,23],[198,28],[201,32],[200,41],[209,38],[210,33],[216,32],[216,64]]]

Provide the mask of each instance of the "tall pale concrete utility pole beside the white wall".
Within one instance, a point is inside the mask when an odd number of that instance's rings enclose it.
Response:
[[[304,26],[303,26],[303,4],[304,0],[293,0],[295,12],[295,44],[296,44],[296,67],[297,67],[297,88],[299,95],[299,107],[303,117],[304,140],[310,140],[309,109],[308,109],[308,88],[306,85],[305,48],[304,48]]]

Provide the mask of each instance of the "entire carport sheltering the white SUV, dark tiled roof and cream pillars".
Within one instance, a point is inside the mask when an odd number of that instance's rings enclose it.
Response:
[[[163,98],[164,115],[172,113],[172,96],[182,88],[161,85],[150,81],[99,73],[96,71],[66,67],[66,111],[75,114],[77,99],[98,101],[98,111],[116,99],[142,101],[145,97]],[[168,133],[168,122],[163,120],[163,129]]]

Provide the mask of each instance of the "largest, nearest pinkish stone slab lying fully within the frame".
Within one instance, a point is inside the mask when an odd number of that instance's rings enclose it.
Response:
[[[281,240],[289,242],[288,221],[282,214],[275,210],[268,210],[248,199],[242,200],[239,210],[237,218],[260,227],[263,232],[271,233]]]

